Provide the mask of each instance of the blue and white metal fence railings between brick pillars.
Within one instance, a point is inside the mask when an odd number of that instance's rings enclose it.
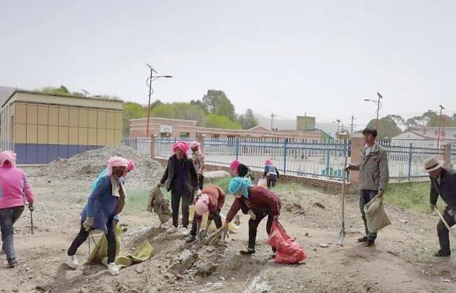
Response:
[[[172,155],[176,141],[195,141],[195,138],[155,138],[154,157]],[[150,138],[124,138],[138,152],[150,155]],[[207,164],[229,166],[233,159],[246,164],[254,171],[263,171],[265,159],[271,159],[280,173],[324,180],[342,180],[345,156],[351,162],[350,141],[320,141],[316,143],[290,143],[287,139],[268,141],[247,139],[205,138],[204,149]],[[389,177],[392,181],[413,181],[428,178],[424,162],[429,157],[443,161],[443,148],[416,147],[415,145],[383,144],[387,150]],[[190,154],[190,151],[188,152]],[[359,156],[359,153],[353,154]],[[456,150],[452,150],[451,163],[456,166]]]

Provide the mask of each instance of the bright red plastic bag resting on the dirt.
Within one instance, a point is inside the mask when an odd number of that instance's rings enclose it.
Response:
[[[298,264],[307,257],[299,243],[286,234],[277,220],[272,222],[268,244],[277,249],[274,259],[277,264]]]

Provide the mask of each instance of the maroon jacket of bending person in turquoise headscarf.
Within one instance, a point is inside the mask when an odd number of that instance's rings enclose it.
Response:
[[[281,202],[279,196],[263,187],[249,187],[249,205],[254,213],[272,213],[272,215],[280,215]],[[226,215],[226,221],[231,222],[239,210],[242,210],[242,213],[244,214],[247,214],[249,211],[249,207],[242,197],[233,201],[233,204]]]

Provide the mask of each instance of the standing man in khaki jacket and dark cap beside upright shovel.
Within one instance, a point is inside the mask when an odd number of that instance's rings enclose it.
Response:
[[[365,242],[366,246],[375,244],[377,233],[370,232],[367,228],[364,206],[371,201],[375,195],[382,197],[388,185],[388,155],[385,148],[375,143],[377,130],[366,128],[363,130],[364,148],[361,149],[359,164],[347,166],[347,171],[359,171],[359,208],[366,229],[366,236],[358,239],[358,242]]]

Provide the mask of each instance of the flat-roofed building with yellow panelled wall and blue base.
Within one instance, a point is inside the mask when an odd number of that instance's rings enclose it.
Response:
[[[104,106],[104,108],[99,108]],[[113,107],[113,108],[111,108]],[[122,143],[122,101],[18,92],[6,102],[18,164],[47,164],[104,145]],[[4,114],[4,113],[2,113]],[[2,115],[2,122],[7,118]],[[2,131],[5,127],[2,123]],[[2,143],[8,134],[1,134]]]

